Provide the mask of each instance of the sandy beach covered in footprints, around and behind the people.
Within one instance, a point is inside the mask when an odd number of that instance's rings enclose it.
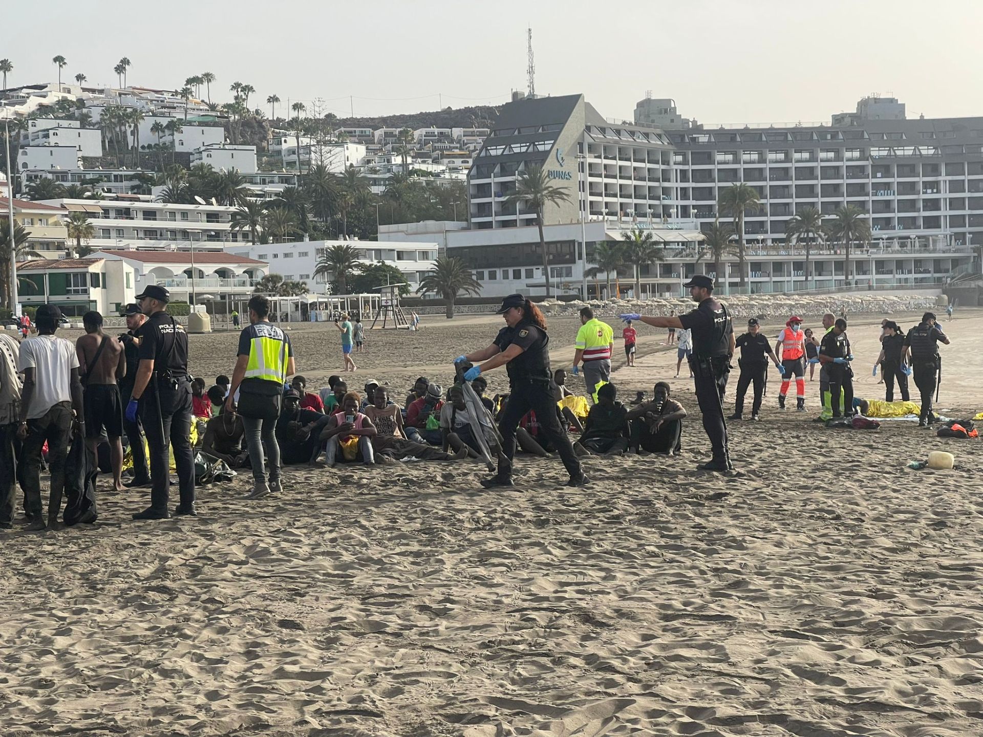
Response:
[[[847,315],[857,396],[884,398],[882,316]],[[501,324],[367,331],[350,387],[446,386]],[[578,324],[549,320],[554,368]],[[942,326],[939,411],[971,417],[983,310]],[[280,495],[247,501],[239,475],[199,489],[198,518],[134,522],[147,491],[100,477],[96,524],[0,533],[0,734],[983,733],[980,440],[827,429],[818,370],[804,414],[778,409],[773,371],[763,422],[729,425],[737,471],[695,473],[692,383],[671,378],[664,330],[638,332],[633,369],[615,338],[612,381],[628,402],[669,379],[683,452],[587,459],[586,488],[521,455],[496,493],[478,462],[288,467]],[[331,324],[290,334],[309,390],[340,373]],[[231,374],[236,341],[191,336],[191,370]],[[505,390],[503,369],[487,377]],[[906,468],[933,449],[954,471]]]

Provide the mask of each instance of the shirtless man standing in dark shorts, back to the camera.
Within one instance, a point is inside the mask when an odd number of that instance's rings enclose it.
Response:
[[[102,315],[86,312],[82,316],[86,334],[75,342],[79,356],[79,375],[85,387],[86,446],[94,457],[99,436],[105,428],[109,437],[109,458],[113,467],[113,486],[123,486],[123,403],[117,380],[126,375],[123,344],[102,332]],[[100,350],[101,346],[101,350]]]

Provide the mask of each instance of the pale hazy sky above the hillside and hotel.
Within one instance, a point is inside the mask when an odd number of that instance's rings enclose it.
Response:
[[[349,95],[356,115],[494,104],[526,88],[532,27],[537,92],[583,92],[607,117],[630,118],[647,89],[704,123],[829,122],[869,92],[893,92],[908,117],[983,115],[983,0],[11,5],[10,85],[53,81],[56,54],[63,80],[115,85],[127,56],[131,84],[174,88],[210,71],[218,101],[239,81],[259,103],[321,97],[339,117]]]

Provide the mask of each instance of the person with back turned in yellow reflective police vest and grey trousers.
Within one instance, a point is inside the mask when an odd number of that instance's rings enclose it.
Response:
[[[283,490],[276,421],[283,401],[283,383],[295,372],[295,366],[290,338],[269,322],[269,300],[262,295],[250,299],[249,321],[239,334],[239,355],[225,411],[243,418],[253,466],[253,490],[246,498],[259,499]],[[238,402],[234,399],[237,390]],[[264,460],[269,462],[268,481]]]

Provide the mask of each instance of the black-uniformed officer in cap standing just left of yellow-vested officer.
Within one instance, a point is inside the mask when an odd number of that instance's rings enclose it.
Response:
[[[150,449],[150,506],[133,516],[135,520],[162,520],[170,488],[168,442],[174,449],[181,502],[178,515],[196,515],[195,460],[191,452],[191,383],[188,380],[188,334],[165,308],[170,293],[149,285],[137,296],[147,315],[140,338],[140,366],[133,393],[126,408],[126,419],[134,423],[138,408]]]

